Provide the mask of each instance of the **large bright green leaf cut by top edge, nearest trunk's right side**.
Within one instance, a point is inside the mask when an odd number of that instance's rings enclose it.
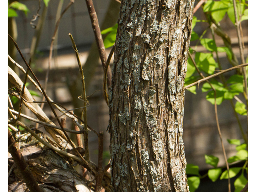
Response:
[[[230,7],[230,2],[227,2],[226,0],[221,0],[221,1],[208,0],[204,5],[203,11],[211,12],[212,18],[214,18],[216,22],[220,22],[225,16],[229,7]]]

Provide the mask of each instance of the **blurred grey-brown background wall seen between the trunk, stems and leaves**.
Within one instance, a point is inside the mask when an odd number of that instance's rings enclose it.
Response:
[[[9,2],[11,3],[12,1]],[[17,11],[18,17],[8,18],[8,33],[16,38],[16,42],[26,60],[32,58],[32,69],[44,87],[49,63],[49,49],[55,23],[60,16],[60,10],[63,11],[70,0],[50,0],[48,7],[45,6],[43,1],[40,2],[41,8],[38,12],[40,17],[32,23],[38,26],[42,23],[42,30],[38,30],[38,27],[36,29],[33,28],[33,24],[30,23],[33,19],[33,15],[36,15],[38,11],[38,0],[20,0],[19,2],[26,4],[30,12],[25,15],[24,12]],[[93,0],[93,3],[101,30],[112,27],[117,23],[120,8],[120,3],[118,1]],[[200,20],[205,19],[202,8],[199,8],[194,16]],[[236,29],[227,14],[220,22],[220,25],[230,36],[233,52],[236,54],[238,61],[240,61]],[[207,27],[207,23],[198,22],[194,27],[194,31],[200,36]],[[247,21],[242,22],[242,32],[245,45],[244,54],[247,57]],[[104,132],[104,161],[105,164],[108,164],[110,158],[109,135],[108,132],[106,132],[106,129],[108,126],[109,113],[102,91],[103,68],[99,60],[91,21],[84,0],[75,0],[75,3],[67,10],[60,20],[58,32],[54,40],[53,57],[46,93],[52,100],[54,100],[54,102],[62,104],[68,109],[82,106],[82,102],[77,98],[82,93],[82,90],[80,89],[80,72],[75,52],[72,48],[72,42],[68,36],[69,33],[72,34],[74,41],[76,42],[78,52],[80,53],[81,63],[85,66],[86,95],[89,96],[92,94],[92,96],[88,98],[90,106],[87,107],[87,122],[88,125],[97,132]],[[212,38],[210,30],[204,34],[204,38]],[[222,40],[218,36],[215,36],[215,38],[217,46],[223,46]],[[196,41],[191,42],[191,47],[193,48],[193,46],[196,46]],[[33,52],[31,52],[31,48],[33,48]],[[107,49],[107,54],[110,52],[110,49],[111,48]],[[201,52],[206,51],[200,44],[197,46],[197,50],[202,50]],[[16,50],[11,44],[8,46],[8,52],[18,64],[25,68],[21,57],[16,53]],[[219,54],[219,59],[223,69],[232,67],[226,58],[226,54]],[[9,65],[13,66],[11,63]],[[112,61],[110,66],[112,66]],[[24,74],[18,72],[16,68],[15,71],[20,74],[21,79],[24,78]],[[228,78],[233,74],[235,74],[235,71],[228,72],[224,74],[224,76]],[[209,168],[212,168],[209,164],[206,164],[204,154],[217,156],[219,158],[219,167],[224,167],[225,162],[216,126],[214,105],[205,99],[207,93],[202,93],[200,86],[202,85],[199,85],[199,89],[196,89],[196,94],[192,94],[187,90],[185,92],[183,140],[187,163],[198,165],[200,174],[202,175],[207,173]],[[28,85],[28,89],[36,91],[34,87],[30,85]],[[35,99],[42,100],[42,97],[35,96]],[[240,99],[242,100],[242,98]],[[29,111],[26,111],[26,108],[23,110],[25,114],[30,113]],[[53,117],[47,104],[44,106],[44,111],[48,116]],[[81,111],[74,110],[74,113],[80,115]],[[32,114],[29,115],[33,116]],[[228,100],[224,100],[221,105],[218,105],[218,118],[227,156],[233,156],[236,154],[235,146],[228,144],[227,139],[242,139],[242,136],[238,122],[236,121],[234,112]],[[247,117],[239,115],[239,118],[241,120],[242,128],[247,133]],[[29,124],[33,124],[33,122],[29,122]],[[69,119],[67,119],[67,128],[73,129],[73,124]],[[90,160],[97,163],[98,137],[90,131],[89,149]],[[234,179],[235,178],[232,178],[233,182]],[[201,180],[200,187],[196,191],[207,190],[220,192],[222,191],[220,190],[221,186],[224,186],[224,188],[227,186],[227,180],[218,180],[217,182],[218,184],[216,185],[216,183],[211,182],[209,179]],[[227,191],[227,188],[223,191]]]

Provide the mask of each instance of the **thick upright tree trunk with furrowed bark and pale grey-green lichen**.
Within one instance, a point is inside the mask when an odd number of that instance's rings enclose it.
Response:
[[[114,192],[188,192],[184,78],[194,0],[122,0],[110,89]]]

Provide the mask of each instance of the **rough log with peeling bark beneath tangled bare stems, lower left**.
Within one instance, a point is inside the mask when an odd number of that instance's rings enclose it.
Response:
[[[39,135],[47,141],[44,134]],[[86,180],[72,166],[74,162],[44,147],[30,134],[23,139],[22,155],[43,192],[92,192]],[[8,170],[13,163],[11,155],[8,154]],[[8,178],[8,192],[13,191],[28,191],[16,166]]]

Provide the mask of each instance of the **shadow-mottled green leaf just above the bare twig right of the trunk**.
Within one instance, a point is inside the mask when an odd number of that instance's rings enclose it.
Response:
[[[211,53],[196,52],[195,62],[198,67],[208,74],[213,74],[216,62]]]

